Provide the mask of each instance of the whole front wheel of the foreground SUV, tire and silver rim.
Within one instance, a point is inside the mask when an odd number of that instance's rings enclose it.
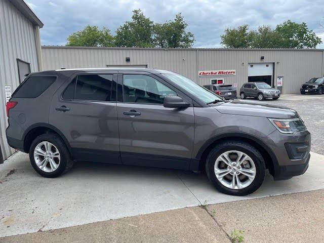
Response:
[[[246,142],[223,142],[209,153],[206,172],[215,187],[230,195],[248,195],[262,184],[265,163],[260,152]]]

